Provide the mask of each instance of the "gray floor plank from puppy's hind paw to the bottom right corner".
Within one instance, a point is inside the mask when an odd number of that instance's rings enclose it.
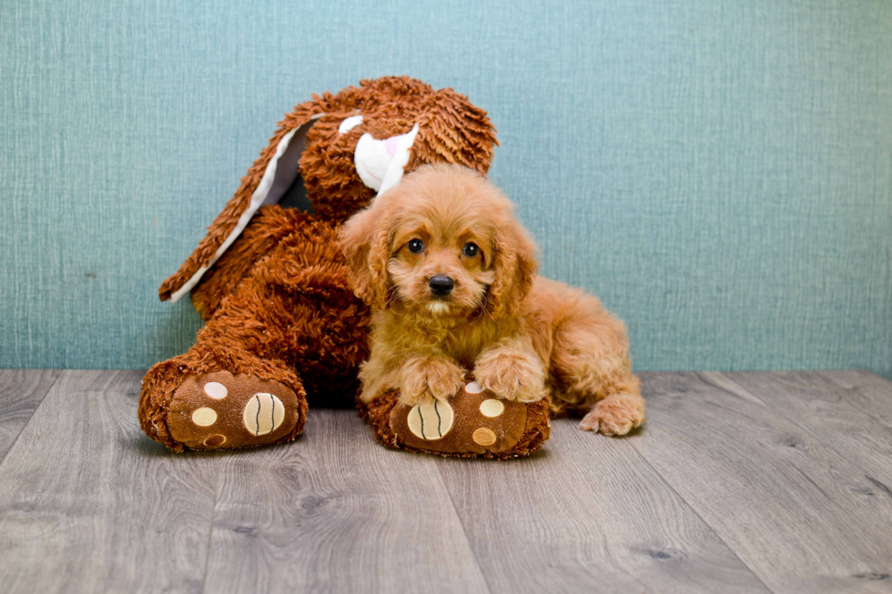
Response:
[[[642,376],[648,420],[634,448],[769,588],[889,590],[892,498],[859,493],[848,459],[754,390],[713,374]]]

